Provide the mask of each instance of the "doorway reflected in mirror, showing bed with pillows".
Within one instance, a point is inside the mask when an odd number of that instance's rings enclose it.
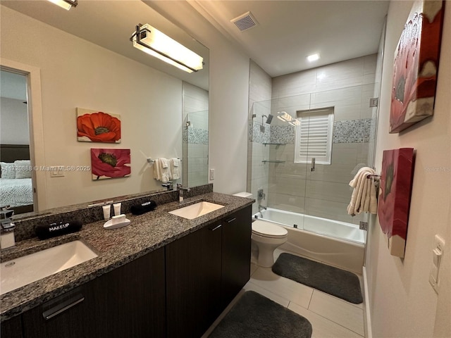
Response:
[[[0,207],[35,211],[27,76],[0,70]]]

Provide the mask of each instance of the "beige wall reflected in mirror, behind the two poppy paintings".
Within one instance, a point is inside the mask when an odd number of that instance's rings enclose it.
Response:
[[[46,175],[47,208],[161,188],[146,156],[182,156],[180,80],[4,6],[1,57],[41,70],[45,165],[90,165],[90,148],[131,149],[127,178]],[[121,144],[77,142],[77,107],[120,114]]]

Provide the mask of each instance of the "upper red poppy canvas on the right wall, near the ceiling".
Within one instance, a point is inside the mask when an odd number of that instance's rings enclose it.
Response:
[[[390,133],[433,115],[445,1],[415,1],[397,44]]]

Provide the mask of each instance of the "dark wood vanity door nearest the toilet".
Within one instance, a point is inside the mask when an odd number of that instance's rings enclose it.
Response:
[[[252,210],[248,206],[223,220],[222,295],[225,308],[250,278]]]

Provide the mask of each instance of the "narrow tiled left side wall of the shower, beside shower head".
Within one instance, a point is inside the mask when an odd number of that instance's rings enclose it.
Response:
[[[247,156],[247,192],[251,192],[254,199],[257,200],[257,189],[263,188],[266,192],[266,200],[261,201],[266,205],[268,199],[268,165],[262,161],[269,157],[269,148],[264,146],[269,142],[270,126],[265,125],[264,131],[261,127],[261,115],[271,113],[271,77],[262,70],[257,63],[250,61],[249,67],[249,139]],[[254,111],[254,102],[267,101],[262,108],[256,108]],[[261,105],[259,104],[259,107]],[[256,118],[252,114],[256,113]],[[258,202],[252,205],[252,213],[258,211]]]

